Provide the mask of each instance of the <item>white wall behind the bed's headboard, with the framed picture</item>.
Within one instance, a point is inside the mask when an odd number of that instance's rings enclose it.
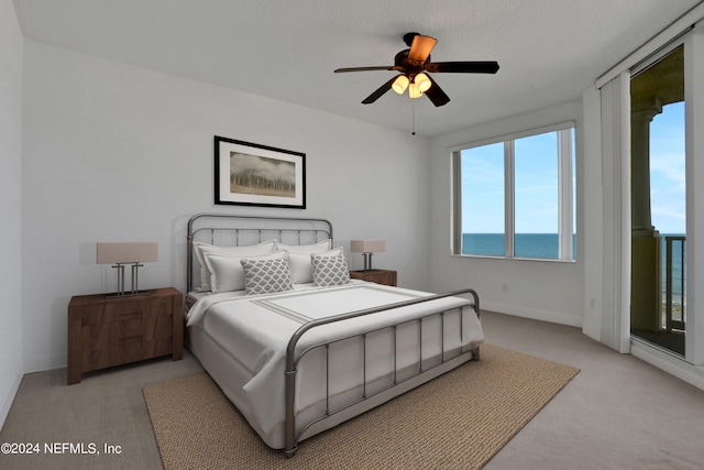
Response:
[[[385,239],[375,266],[427,287],[427,140],[34,42],[24,64],[28,372],[66,364],[73,295],[114,289],[112,270],[95,264],[97,241],[157,241],[140,287],[183,291],[195,212],[328,218],[336,244]],[[213,135],[306,153],[308,208],[215,206]]]

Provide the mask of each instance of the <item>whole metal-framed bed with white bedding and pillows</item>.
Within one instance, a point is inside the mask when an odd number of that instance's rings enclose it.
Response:
[[[323,219],[198,214],[188,222],[186,346],[263,441],[298,442],[470,360],[471,288],[350,280]]]

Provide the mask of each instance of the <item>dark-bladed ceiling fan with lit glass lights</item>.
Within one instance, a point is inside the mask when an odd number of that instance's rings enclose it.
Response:
[[[364,105],[373,103],[389,89],[393,89],[399,95],[403,95],[404,91],[408,89],[408,96],[410,98],[420,98],[425,94],[435,106],[443,106],[450,101],[450,97],[442,91],[440,86],[438,86],[427,73],[495,74],[498,70],[498,63],[493,61],[430,62],[430,52],[438,42],[435,37],[424,36],[419,33],[406,33],[404,35],[404,42],[410,48],[396,54],[394,65],[338,68],[334,73],[365,70],[400,72],[399,75],[396,75],[372,95],[367,96],[362,101]]]

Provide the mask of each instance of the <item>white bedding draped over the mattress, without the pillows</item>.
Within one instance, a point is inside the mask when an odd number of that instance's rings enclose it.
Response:
[[[263,440],[270,447],[283,448],[284,370],[286,347],[292,335],[312,319],[430,295],[363,282],[324,288],[304,285],[292,292],[257,296],[244,296],[241,292],[222,293],[196,302],[187,314],[187,325],[198,336],[194,353],[197,357],[199,351],[202,356],[210,354],[206,348],[215,348],[215,356],[224,358],[228,368],[199,357]],[[436,299],[308,331],[299,341],[297,351],[323,338],[343,338],[370,327],[384,328],[444,310],[453,310],[446,315],[444,320],[435,316],[425,319],[422,327],[417,321],[409,321],[397,327],[395,334],[392,328],[386,328],[369,335],[365,346],[361,337],[334,343],[330,347],[329,365],[326,365],[323,348],[307,353],[297,374],[297,429],[324,413],[327,369],[330,371],[330,408],[336,409],[359,400],[364,387],[369,394],[389,385],[394,381],[394,370],[400,380],[415,374],[421,362],[424,367],[440,362],[440,335],[444,337],[446,356],[453,356],[460,342],[468,350],[484,339],[470,302],[461,297]],[[394,336],[398,352],[396,363],[392,354]],[[420,338],[421,348],[418,346]],[[364,357],[365,374],[362,372]],[[212,364],[212,370],[206,362]],[[229,378],[234,371],[237,378]]]

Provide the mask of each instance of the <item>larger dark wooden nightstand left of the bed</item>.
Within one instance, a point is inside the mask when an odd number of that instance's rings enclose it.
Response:
[[[68,303],[68,384],[84,372],[172,354],[184,357],[183,296],[173,287],[138,296],[75,296]]]

